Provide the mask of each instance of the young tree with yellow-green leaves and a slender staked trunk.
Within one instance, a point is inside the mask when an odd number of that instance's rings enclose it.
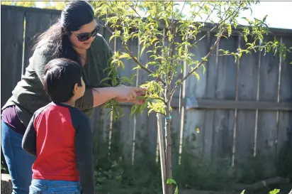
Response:
[[[264,53],[273,51],[274,55],[281,55],[283,59],[287,52],[291,52],[292,48],[286,48],[276,38],[274,41],[266,41],[264,36],[269,34],[266,16],[262,20],[243,18],[248,25],[238,24],[241,19],[240,13],[246,10],[252,11],[252,5],[257,3],[258,1],[185,1],[181,4],[176,4],[175,1],[96,1],[92,3],[96,8],[96,15],[104,22],[104,26],[113,31],[110,41],[115,37],[120,38],[125,50],[125,52],[117,50],[114,53],[112,70],[109,71],[108,79],[113,79],[113,83],[116,83],[114,69],[120,66],[124,68],[123,58],[134,60],[138,69],[145,70],[153,77],[152,81],[143,85],[143,87],[148,87],[145,95],[147,100],[142,105],[133,105],[132,113],[142,112],[147,107],[148,113],[165,117],[165,153],[163,144],[160,142],[160,155],[163,155],[161,156],[162,185],[166,182],[175,183],[172,179],[171,102],[174,92],[184,81],[191,75],[199,79],[196,71],[199,68],[205,70],[204,64],[211,55],[231,55],[236,61],[242,54],[259,50],[263,50]],[[208,28],[208,30],[201,36],[203,28]],[[229,50],[213,52],[220,39],[230,38],[234,34],[242,36],[245,40],[244,47],[238,48],[236,52]],[[201,60],[194,60],[191,48],[196,47],[200,41],[211,35],[215,36],[215,41],[206,56]],[[133,38],[138,38],[140,48],[142,48],[138,50],[138,55],[142,55],[145,50],[151,54],[148,63],[142,64],[137,56],[133,55],[133,50],[130,50],[129,46],[129,40]],[[181,41],[177,41],[178,38],[181,38]],[[189,72],[186,72],[186,66],[189,66]],[[184,70],[183,75],[177,72],[179,68]],[[179,79],[174,80],[177,75]],[[175,83],[172,87],[173,82]],[[117,102],[108,102],[106,107],[112,107],[114,112],[118,113],[116,112]],[[119,117],[121,114],[115,115]],[[162,130],[161,127],[158,129]],[[161,135],[162,131],[158,131],[158,134]],[[166,166],[166,172],[164,172],[164,166]],[[166,179],[164,179],[164,173]],[[163,190],[167,194],[172,193],[170,184],[167,184]]]

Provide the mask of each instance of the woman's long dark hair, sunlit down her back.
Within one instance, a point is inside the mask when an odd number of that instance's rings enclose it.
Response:
[[[60,19],[47,31],[38,36],[35,48],[45,43],[52,44],[52,57],[68,58],[80,63],[79,55],[72,47],[69,36],[84,24],[94,20],[94,9],[86,1],[69,2],[63,9]]]

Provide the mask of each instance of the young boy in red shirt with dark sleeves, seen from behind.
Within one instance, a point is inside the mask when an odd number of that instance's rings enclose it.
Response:
[[[75,101],[84,95],[82,68],[72,60],[51,60],[44,88],[52,99],[28,124],[22,147],[36,156],[30,193],[94,194],[89,119]],[[80,180],[80,182],[79,182]]]

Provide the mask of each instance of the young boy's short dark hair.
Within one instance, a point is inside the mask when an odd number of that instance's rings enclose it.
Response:
[[[45,66],[44,89],[53,102],[67,102],[74,85],[82,86],[82,68],[73,60],[57,58]]]

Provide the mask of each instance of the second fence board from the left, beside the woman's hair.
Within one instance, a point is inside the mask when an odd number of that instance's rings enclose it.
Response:
[[[24,50],[24,66],[28,67],[29,58],[33,55],[35,37],[43,33],[50,26],[51,14],[26,12],[26,39]]]

